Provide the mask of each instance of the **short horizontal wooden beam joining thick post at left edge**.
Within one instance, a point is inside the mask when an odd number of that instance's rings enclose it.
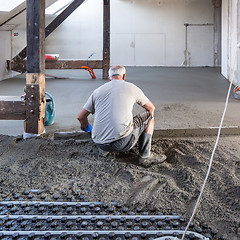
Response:
[[[20,96],[0,96],[0,120],[25,120],[25,101]]]

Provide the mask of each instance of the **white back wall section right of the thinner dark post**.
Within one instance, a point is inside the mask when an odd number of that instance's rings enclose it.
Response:
[[[116,0],[111,14],[113,64],[180,66],[184,23],[213,23],[211,0]],[[188,27],[188,49],[192,66],[213,66],[213,26]]]

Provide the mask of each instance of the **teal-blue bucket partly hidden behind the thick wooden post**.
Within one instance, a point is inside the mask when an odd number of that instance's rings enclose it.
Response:
[[[44,126],[50,126],[54,123],[55,119],[55,102],[50,93],[45,92],[45,97],[48,98],[46,98]]]

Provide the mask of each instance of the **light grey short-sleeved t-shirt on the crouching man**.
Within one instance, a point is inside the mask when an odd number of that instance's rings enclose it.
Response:
[[[149,99],[142,90],[123,80],[112,80],[97,88],[84,109],[95,114],[92,139],[104,144],[128,136],[133,130],[133,105],[143,106]]]

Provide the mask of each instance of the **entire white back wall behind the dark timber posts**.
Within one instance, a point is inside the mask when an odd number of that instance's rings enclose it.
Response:
[[[61,59],[102,59],[102,0],[88,0],[46,39]],[[211,0],[112,0],[111,64],[181,66],[184,23],[213,23]],[[47,23],[52,18],[47,17]],[[13,55],[26,44],[25,25],[14,30]],[[192,66],[214,65],[213,26],[188,28]]]

